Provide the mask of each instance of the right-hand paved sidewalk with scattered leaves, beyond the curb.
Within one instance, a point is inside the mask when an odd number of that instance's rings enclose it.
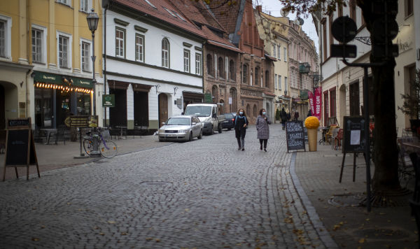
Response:
[[[318,134],[320,137],[320,134]],[[297,152],[295,172],[323,225],[340,248],[418,248],[418,234],[411,208],[377,208],[367,213],[357,205],[366,192],[366,166],[356,159],[353,183],[353,154],[346,155],[342,183],[339,171],[343,154],[331,145],[318,144],[316,152]],[[292,170],[292,169],[291,169]],[[374,166],[371,166],[371,175]],[[407,196],[411,198],[412,194]]]

